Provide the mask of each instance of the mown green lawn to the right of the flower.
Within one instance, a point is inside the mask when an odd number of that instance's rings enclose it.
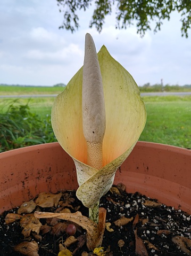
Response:
[[[144,99],[147,121],[139,140],[191,148],[191,97],[150,100]]]

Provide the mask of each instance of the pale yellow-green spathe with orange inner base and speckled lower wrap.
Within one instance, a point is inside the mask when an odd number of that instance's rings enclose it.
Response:
[[[79,184],[77,197],[88,208],[110,189],[116,170],[129,156],[146,122],[145,106],[132,76],[111,57],[105,46],[102,46],[97,56],[106,116],[103,164],[100,169],[87,162],[81,111],[83,67],[55,98],[52,108],[55,136],[74,160]]]

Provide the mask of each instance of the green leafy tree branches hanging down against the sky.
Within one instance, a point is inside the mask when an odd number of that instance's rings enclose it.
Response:
[[[86,11],[94,1],[92,0],[56,0],[64,19],[60,28],[74,32],[79,28],[77,11]],[[146,30],[151,30],[150,23],[154,20],[154,33],[160,30],[162,21],[170,19],[173,11],[181,14],[181,36],[188,37],[191,24],[190,0],[96,0],[95,10],[89,27],[95,26],[101,32],[106,15],[111,14],[112,6],[117,6],[115,12],[115,28],[127,28],[136,23],[137,33],[143,36]]]

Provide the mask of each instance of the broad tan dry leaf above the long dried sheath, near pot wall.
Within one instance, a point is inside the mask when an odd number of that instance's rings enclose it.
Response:
[[[58,203],[62,196],[62,192],[58,194],[52,193],[39,193],[38,198],[36,200],[36,205],[40,207],[53,207],[55,204]]]

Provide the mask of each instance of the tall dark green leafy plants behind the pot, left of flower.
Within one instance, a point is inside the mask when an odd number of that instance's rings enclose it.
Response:
[[[56,141],[51,115],[41,119],[31,113],[28,104],[12,102],[6,112],[0,113],[0,120],[0,152]]]

